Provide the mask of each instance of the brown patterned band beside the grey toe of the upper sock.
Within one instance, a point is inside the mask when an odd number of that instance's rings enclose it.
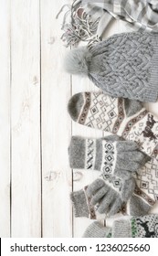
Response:
[[[88,112],[90,110],[90,103],[91,103],[91,95],[90,92],[84,92],[84,104],[83,108],[81,110],[81,113],[79,115],[79,123],[84,124],[88,115]]]

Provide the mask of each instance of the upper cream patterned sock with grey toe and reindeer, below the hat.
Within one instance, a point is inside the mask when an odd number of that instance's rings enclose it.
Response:
[[[140,101],[82,92],[70,98],[68,112],[75,122],[135,141],[142,152],[158,159],[158,119]]]

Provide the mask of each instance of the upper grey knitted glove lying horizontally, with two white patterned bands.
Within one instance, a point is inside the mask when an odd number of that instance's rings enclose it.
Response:
[[[129,178],[150,157],[138,149],[138,144],[116,139],[116,135],[100,139],[72,136],[68,147],[70,167],[98,170],[101,176]]]

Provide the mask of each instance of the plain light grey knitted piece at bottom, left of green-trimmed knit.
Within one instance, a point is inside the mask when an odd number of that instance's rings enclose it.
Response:
[[[83,238],[110,238],[111,228],[104,227],[98,221],[94,221],[85,230]]]

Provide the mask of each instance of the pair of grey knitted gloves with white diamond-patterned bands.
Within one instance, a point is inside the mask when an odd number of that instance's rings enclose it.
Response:
[[[71,193],[75,216],[90,219],[122,210],[135,190],[132,172],[149,160],[137,144],[117,135],[101,139],[73,136],[68,153],[71,168],[100,171],[99,178],[89,186]]]

